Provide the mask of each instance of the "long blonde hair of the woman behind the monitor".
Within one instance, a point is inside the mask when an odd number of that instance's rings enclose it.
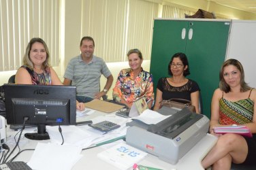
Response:
[[[39,43],[43,44],[44,49],[46,50],[46,61],[44,61],[44,63],[42,64],[42,67],[43,67],[42,69],[46,69],[47,67],[50,67],[50,64],[49,64],[50,53],[49,53],[48,47],[47,47],[46,43],[44,42],[44,40],[41,38],[38,38],[38,37],[32,38],[29,41],[29,44],[27,45],[27,48],[26,48],[25,55],[23,56],[23,65],[26,65],[31,70],[33,69],[34,64],[31,61],[29,53],[30,53],[30,50],[35,42],[39,42]]]

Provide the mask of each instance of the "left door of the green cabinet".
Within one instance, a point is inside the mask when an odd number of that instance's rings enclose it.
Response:
[[[168,64],[172,55],[175,52],[185,52],[187,36],[182,39],[182,30],[187,31],[187,24],[187,21],[155,20],[150,61],[154,90],[159,78],[169,76]]]

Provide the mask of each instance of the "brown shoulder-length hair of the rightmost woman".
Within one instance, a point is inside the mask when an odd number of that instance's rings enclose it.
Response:
[[[229,65],[234,65],[241,73],[241,78],[240,78],[240,91],[241,92],[246,92],[248,90],[251,89],[250,86],[248,86],[246,84],[246,82],[244,82],[244,68],[242,67],[242,64],[237,61],[236,59],[228,59],[227,61],[225,61],[223,63],[223,65],[221,66],[221,71],[219,71],[219,88],[221,90],[223,90],[224,92],[230,92],[230,86],[225,82],[224,80],[224,75],[223,75],[223,72],[224,72],[224,69],[225,67],[229,66]]]

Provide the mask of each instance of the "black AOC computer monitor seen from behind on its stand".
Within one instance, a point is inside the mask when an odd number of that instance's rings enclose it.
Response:
[[[76,124],[76,86],[4,84],[7,124],[37,125],[29,139],[50,139],[46,125]]]

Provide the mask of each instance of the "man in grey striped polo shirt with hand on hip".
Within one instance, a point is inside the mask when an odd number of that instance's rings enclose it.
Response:
[[[76,86],[76,99],[83,103],[106,95],[113,82],[113,76],[105,61],[93,55],[94,48],[95,43],[92,37],[82,37],[81,54],[69,61],[64,74],[63,84]],[[107,82],[100,91],[101,74],[107,78]]]

